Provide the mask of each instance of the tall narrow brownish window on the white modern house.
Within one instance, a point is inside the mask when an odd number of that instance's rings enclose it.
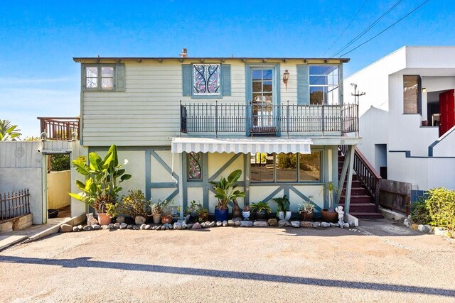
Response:
[[[403,113],[422,114],[422,79],[418,75],[403,76]]]

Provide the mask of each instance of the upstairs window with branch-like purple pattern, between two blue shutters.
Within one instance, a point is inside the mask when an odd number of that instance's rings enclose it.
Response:
[[[193,95],[220,94],[220,65],[193,65]]]

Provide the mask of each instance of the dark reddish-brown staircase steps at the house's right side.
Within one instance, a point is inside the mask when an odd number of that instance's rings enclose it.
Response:
[[[357,155],[357,153],[356,153]],[[341,170],[343,169],[343,164],[345,161],[345,156],[338,150],[338,178],[341,175]],[[339,205],[345,207],[346,199],[346,185],[347,181],[343,184],[343,190],[341,192],[341,198]],[[349,213],[359,219],[380,219],[383,218],[382,214],[377,211],[377,206],[375,201],[365,187],[365,183],[360,179],[360,177],[355,174],[353,175],[352,188],[350,191],[350,206]]]

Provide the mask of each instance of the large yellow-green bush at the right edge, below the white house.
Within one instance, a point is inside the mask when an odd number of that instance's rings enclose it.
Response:
[[[426,194],[425,204],[428,209],[430,224],[455,228],[455,191],[444,187],[432,188]]]

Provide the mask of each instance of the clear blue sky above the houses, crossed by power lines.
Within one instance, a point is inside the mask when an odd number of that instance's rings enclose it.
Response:
[[[402,0],[351,48],[423,1]],[[355,16],[364,2],[9,1],[0,10],[0,119],[38,136],[37,116],[78,115],[72,57],[174,57],[181,48],[192,57],[331,57],[397,0],[367,0]],[[454,28],[455,1],[430,0],[346,55],[345,73],[403,45],[455,45]]]

